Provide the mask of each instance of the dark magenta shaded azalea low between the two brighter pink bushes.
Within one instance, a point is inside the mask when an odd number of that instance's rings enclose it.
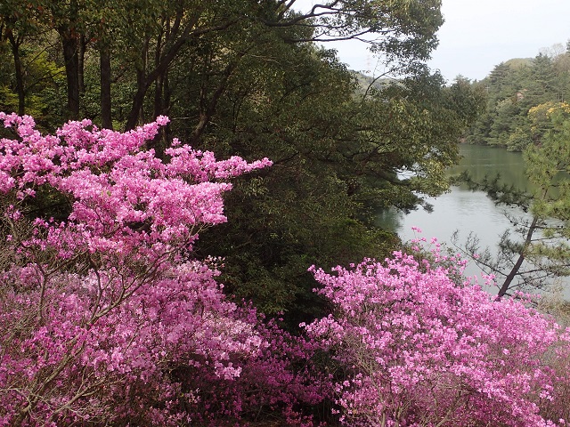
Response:
[[[277,415],[286,425],[314,427],[314,409],[330,402],[333,390],[323,369],[322,345],[283,331],[273,320],[259,322],[255,314],[248,310],[264,344],[241,361],[238,378],[203,373],[186,380],[200,396],[193,419],[219,427],[262,422]]]

